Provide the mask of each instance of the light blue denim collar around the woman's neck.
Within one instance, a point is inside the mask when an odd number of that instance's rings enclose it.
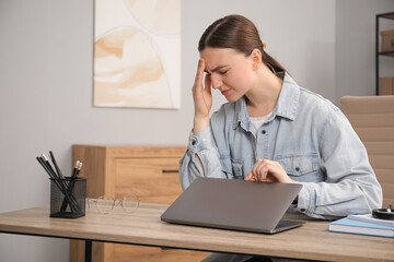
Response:
[[[294,120],[298,112],[300,86],[288,73],[285,73],[279,99],[274,109],[274,118],[276,116],[280,116],[289,120]],[[245,130],[248,130],[251,126],[251,120],[246,110],[245,96],[235,102],[235,118],[233,128],[235,129],[239,124]]]

